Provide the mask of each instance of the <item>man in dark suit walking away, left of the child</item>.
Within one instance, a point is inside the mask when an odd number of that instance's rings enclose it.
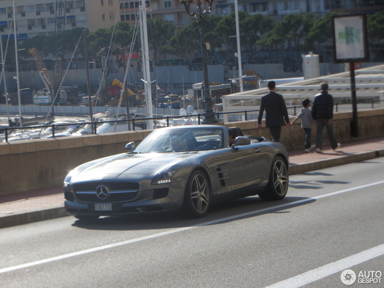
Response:
[[[268,81],[266,86],[268,87],[269,92],[262,97],[260,102],[259,116],[257,118],[257,129],[259,131],[262,129],[261,123],[263,112],[265,110],[265,127],[269,128],[269,131],[272,135],[272,141],[279,142],[281,126],[290,126],[288,112],[283,96],[275,92],[275,81]]]

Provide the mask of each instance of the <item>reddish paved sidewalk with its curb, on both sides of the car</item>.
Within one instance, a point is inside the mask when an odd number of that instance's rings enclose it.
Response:
[[[324,146],[322,154],[300,149],[288,155],[292,175],[384,156],[384,137],[342,143],[336,151]],[[0,228],[66,215],[62,185],[0,195]]]

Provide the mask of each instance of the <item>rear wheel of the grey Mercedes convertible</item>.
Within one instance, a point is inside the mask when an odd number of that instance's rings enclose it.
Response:
[[[273,159],[266,191],[259,194],[262,200],[281,200],[288,190],[288,167],[280,156]]]

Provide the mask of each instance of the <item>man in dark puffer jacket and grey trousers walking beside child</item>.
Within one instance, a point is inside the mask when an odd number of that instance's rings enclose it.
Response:
[[[329,144],[332,150],[340,147],[340,143],[336,142],[333,134],[332,118],[333,118],[333,97],[328,94],[328,84],[323,82],[320,84],[321,93],[314,96],[312,101],[312,118],[316,121],[316,152],[322,153],[322,143],[324,126],[327,130]]]

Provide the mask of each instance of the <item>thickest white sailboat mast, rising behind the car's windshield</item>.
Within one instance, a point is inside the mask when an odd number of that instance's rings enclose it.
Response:
[[[151,70],[149,69],[149,51],[148,51],[148,35],[147,35],[147,17],[145,13],[145,0],[141,0],[140,10],[140,36],[141,36],[141,52],[142,52],[142,66],[144,91],[146,94],[146,117],[153,118],[152,111],[152,94],[151,94]],[[147,129],[153,129],[153,120],[147,120]]]

